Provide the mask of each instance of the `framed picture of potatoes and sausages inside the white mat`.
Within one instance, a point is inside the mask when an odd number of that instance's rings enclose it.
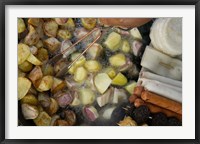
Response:
[[[19,115],[36,126],[182,125],[181,27],[179,18],[19,18]]]

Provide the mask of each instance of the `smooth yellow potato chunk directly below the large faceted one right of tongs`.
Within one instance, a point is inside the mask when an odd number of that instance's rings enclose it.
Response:
[[[113,55],[109,58],[109,63],[111,66],[114,66],[114,67],[123,66],[124,64],[126,64],[126,57],[122,53]]]

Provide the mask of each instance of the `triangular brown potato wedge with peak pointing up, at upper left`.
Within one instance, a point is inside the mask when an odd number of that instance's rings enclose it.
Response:
[[[35,30],[35,28],[32,25],[30,25],[29,33],[24,38],[24,43],[27,45],[35,45],[38,43],[39,39],[40,39],[40,37],[39,37],[37,31]]]

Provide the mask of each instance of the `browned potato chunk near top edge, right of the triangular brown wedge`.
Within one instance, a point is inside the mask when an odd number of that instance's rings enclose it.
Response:
[[[44,33],[49,37],[56,37],[57,30],[58,30],[58,24],[51,20],[47,21],[43,25],[44,27]]]

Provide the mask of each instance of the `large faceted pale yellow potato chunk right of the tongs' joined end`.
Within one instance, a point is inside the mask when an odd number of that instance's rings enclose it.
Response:
[[[104,45],[111,51],[116,51],[121,45],[121,36],[116,32],[112,32],[108,35]]]

